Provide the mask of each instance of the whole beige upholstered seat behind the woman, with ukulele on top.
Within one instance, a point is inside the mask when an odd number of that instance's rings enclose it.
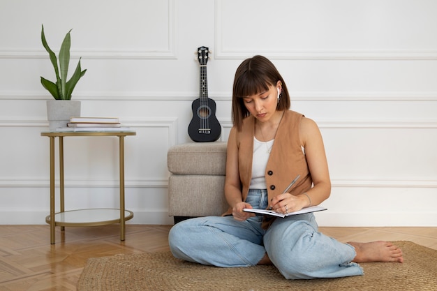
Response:
[[[228,209],[223,194],[225,142],[191,142],[171,147],[167,154],[169,215],[186,218],[221,215]]]

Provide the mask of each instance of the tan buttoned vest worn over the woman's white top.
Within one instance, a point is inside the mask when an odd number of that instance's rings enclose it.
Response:
[[[282,194],[297,174],[300,175],[299,180],[288,191],[292,195],[300,195],[309,191],[313,184],[299,138],[300,121],[303,116],[297,112],[287,110],[284,112],[279,124],[265,170],[269,201],[276,195]],[[246,200],[251,184],[254,133],[255,118],[249,116],[244,119],[242,130],[237,132],[238,163],[243,201]],[[230,213],[232,214],[232,209],[230,209]],[[229,211],[226,214],[229,214]],[[263,227],[267,228],[272,221],[273,219],[265,219]]]

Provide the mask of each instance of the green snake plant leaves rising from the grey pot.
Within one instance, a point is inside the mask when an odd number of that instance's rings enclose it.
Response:
[[[71,100],[71,94],[73,93],[73,89],[75,88],[77,82],[80,78],[85,75],[87,70],[82,70],[80,68],[80,59],[77,63],[77,67],[70,80],[66,81],[67,73],[68,73],[68,64],[70,63],[70,47],[71,47],[71,36],[70,31],[66,34],[64,40],[62,41],[61,49],[59,50],[59,67],[58,60],[56,54],[50,49],[47,44],[47,40],[45,40],[44,35],[44,26],[42,26],[41,30],[41,41],[43,42],[43,46],[45,50],[49,53],[50,61],[52,61],[52,65],[54,68],[54,74],[56,75],[56,83],[49,81],[43,77],[41,77],[41,84],[43,87],[47,89],[52,96],[57,100]]]

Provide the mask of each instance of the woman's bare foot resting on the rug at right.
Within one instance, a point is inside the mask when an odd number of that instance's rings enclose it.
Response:
[[[402,251],[388,241],[349,242],[357,252],[353,262],[403,262]]]

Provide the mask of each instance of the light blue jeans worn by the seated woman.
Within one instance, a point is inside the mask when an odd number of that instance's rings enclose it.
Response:
[[[267,208],[267,191],[251,190],[246,202]],[[268,230],[262,216],[236,221],[232,216],[207,216],[177,223],[170,230],[176,258],[217,267],[256,265],[265,253],[287,279],[362,275],[355,249],[318,232],[313,214],[276,218]]]

